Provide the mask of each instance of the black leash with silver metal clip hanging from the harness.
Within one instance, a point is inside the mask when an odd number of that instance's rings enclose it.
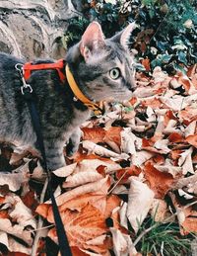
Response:
[[[20,72],[22,81],[23,81],[23,86],[21,87],[22,95],[25,98],[28,108],[31,114],[32,122],[33,122],[33,128],[37,137],[37,144],[39,146],[42,160],[43,160],[43,168],[46,171],[47,178],[48,178],[48,190],[51,198],[51,203],[52,203],[52,211],[54,215],[54,222],[56,226],[56,232],[57,232],[57,237],[58,237],[58,242],[59,242],[59,250],[61,253],[61,256],[72,256],[72,252],[69,246],[68,238],[66,236],[66,232],[64,229],[64,225],[54,198],[54,194],[52,192],[52,184],[51,184],[51,173],[50,170],[47,167],[47,161],[46,161],[46,155],[45,155],[45,148],[44,148],[44,143],[43,143],[43,136],[41,132],[41,126],[40,126],[40,121],[39,121],[39,115],[35,106],[35,100],[33,97],[33,88],[31,87],[30,84],[27,84],[24,77],[23,77],[23,65],[22,64],[17,64],[16,69]]]

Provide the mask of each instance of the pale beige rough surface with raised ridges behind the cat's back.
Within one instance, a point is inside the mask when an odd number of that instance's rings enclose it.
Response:
[[[27,60],[62,57],[60,39],[80,1],[0,0],[0,51]]]

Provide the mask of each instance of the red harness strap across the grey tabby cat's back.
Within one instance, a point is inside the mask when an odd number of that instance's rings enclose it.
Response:
[[[59,59],[55,63],[42,63],[42,64],[33,64],[32,62],[27,62],[23,65],[24,70],[24,78],[27,81],[31,77],[31,72],[33,70],[41,70],[41,69],[55,69],[58,72],[59,78],[62,83],[66,80],[66,76],[63,73],[65,60]]]

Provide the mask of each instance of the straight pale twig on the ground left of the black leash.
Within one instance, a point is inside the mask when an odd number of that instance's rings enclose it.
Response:
[[[48,179],[46,178],[45,183],[43,185],[43,189],[41,191],[41,196],[40,196],[40,203],[43,203],[44,201],[44,196],[46,193],[46,189],[48,186]],[[33,249],[32,249],[32,256],[36,256],[36,250],[37,250],[37,245],[39,242],[39,237],[40,237],[40,231],[42,229],[42,224],[43,224],[43,219],[41,218],[41,216],[38,217],[38,222],[37,222],[37,228],[36,228],[36,233],[34,236],[34,240],[33,240]]]

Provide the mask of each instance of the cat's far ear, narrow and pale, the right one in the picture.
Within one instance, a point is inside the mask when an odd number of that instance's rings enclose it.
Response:
[[[128,48],[131,33],[137,27],[136,23],[130,23],[123,31],[112,37],[110,40],[115,43],[120,43],[124,48]]]

